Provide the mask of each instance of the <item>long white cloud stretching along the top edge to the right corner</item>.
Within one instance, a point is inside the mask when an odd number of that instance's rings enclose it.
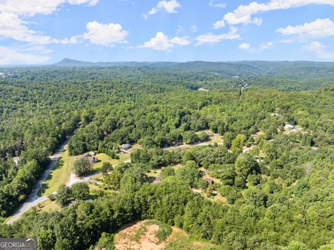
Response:
[[[334,5],[334,0],[271,0],[267,3],[257,3],[253,1],[248,5],[241,5],[233,12],[224,15],[224,20],[231,25],[235,24],[257,24],[261,19],[258,17],[252,19],[252,15],[267,12],[270,10],[285,10],[289,8],[297,8],[309,4],[328,4]]]

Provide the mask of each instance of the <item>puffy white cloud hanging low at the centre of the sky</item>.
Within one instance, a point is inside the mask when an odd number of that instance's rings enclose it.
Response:
[[[154,38],[151,38],[148,42],[145,42],[144,45],[139,47],[145,47],[155,50],[168,50],[174,47],[174,45],[189,45],[189,38],[184,36],[179,38],[175,36],[174,38],[168,38],[164,33],[158,32]]]

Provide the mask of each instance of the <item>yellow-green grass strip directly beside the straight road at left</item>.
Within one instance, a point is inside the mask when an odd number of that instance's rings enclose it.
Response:
[[[61,154],[56,166],[51,171],[49,178],[47,178],[46,182],[42,186],[39,195],[45,196],[51,194],[57,191],[60,185],[65,184],[67,178],[71,174],[71,166],[74,161],[75,157],[68,155],[67,146],[65,146],[65,150]]]

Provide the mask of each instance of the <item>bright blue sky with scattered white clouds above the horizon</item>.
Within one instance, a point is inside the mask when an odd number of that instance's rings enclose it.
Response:
[[[0,0],[0,65],[334,61],[334,0]]]

